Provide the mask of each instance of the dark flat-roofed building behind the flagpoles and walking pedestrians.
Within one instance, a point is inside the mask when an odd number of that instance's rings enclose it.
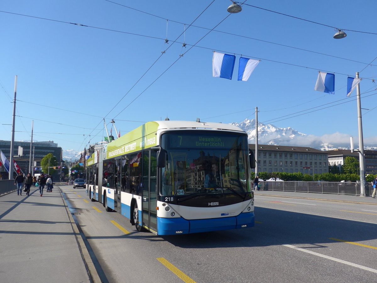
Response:
[[[18,155],[18,147],[22,148],[22,155]],[[8,140],[0,140],[0,149],[4,152],[6,158],[9,161],[10,153],[11,153],[11,141]],[[54,141],[33,141],[31,155],[33,158],[33,150],[34,150],[34,161],[37,163],[34,167],[39,167],[42,158],[52,153],[56,157],[57,162],[60,165],[62,162],[63,157],[63,150],[58,147],[57,143]],[[20,166],[21,170],[24,173],[29,172],[29,160],[30,160],[30,141],[14,141],[13,143],[13,157],[14,160],[17,162],[17,165]],[[40,171],[38,171],[39,173]],[[8,172],[5,171],[4,166],[0,168],[0,173],[2,178],[8,178]]]

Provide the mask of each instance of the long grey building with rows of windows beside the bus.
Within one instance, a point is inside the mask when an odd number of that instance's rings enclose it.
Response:
[[[249,144],[255,154],[255,145]],[[328,152],[302,146],[258,145],[258,172],[328,173]]]

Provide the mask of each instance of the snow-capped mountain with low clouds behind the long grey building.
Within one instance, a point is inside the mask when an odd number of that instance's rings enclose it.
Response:
[[[248,134],[249,143],[255,143],[256,129],[255,119],[246,119],[242,123],[231,123],[243,129]],[[355,149],[357,148],[357,141]],[[336,132],[334,134],[326,134],[322,137],[303,134],[291,127],[279,128],[272,124],[265,125],[259,122],[258,126],[258,143],[264,145],[286,145],[286,146],[307,146],[319,150],[330,149],[350,149],[349,135]],[[364,148],[376,150],[376,143],[364,141]]]

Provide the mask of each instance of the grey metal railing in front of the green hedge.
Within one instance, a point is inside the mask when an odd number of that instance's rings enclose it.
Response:
[[[318,194],[360,195],[357,182],[301,182],[301,181],[261,181],[261,190],[285,192],[310,192]],[[365,184],[365,194],[373,192],[372,183]]]

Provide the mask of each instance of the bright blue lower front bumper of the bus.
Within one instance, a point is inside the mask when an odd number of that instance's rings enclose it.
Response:
[[[198,220],[185,220],[182,217],[157,217],[158,235],[190,234],[199,232],[239,229],[253,226],[254,212],[241,213],[240,215],[234,217]],[[182,232],[176,233],[177,231]]]

